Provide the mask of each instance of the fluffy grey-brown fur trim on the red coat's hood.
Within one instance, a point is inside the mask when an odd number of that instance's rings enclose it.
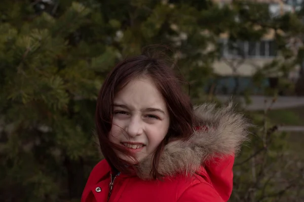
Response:
[[[195,107],[194,113],[198,130],[187,141],[173,141],[165,146],[160,157],[158,171],[163,176],[174,176],[177,173],[192,175],[204,163],[213,158],[237,154],[241,144],[247,139],[248,120],[234,112],[232,103],[216,109],[214,104]],[[150,179],[151,157],[138,165],[137,176]]]

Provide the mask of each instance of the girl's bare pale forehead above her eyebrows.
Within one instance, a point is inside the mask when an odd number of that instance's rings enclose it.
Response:
[[[133,108],[166,108],[166,102],[161,92],[149,77],[131,80],[128,85],[116,93],[114,102],[119,102]]]

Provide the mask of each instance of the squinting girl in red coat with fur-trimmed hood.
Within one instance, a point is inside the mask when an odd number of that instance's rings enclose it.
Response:
[[[126,59],[99,92],[96,128],[105,159],[81,201],[227,201],[248,126],[231,104],[193,108],[164,61]]]

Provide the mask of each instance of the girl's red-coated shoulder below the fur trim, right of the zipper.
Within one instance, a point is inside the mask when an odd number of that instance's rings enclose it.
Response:
[[[184,184],[180,190],[180,195],[177,198],[177,202],[186,201],[214,201],[223,202],[219,193],[208,183],[204,178],[199,175],[192,176],[191,183]]]

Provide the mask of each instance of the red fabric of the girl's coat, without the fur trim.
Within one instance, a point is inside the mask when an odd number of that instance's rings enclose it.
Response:
[[[113,183],[109,201],[227,201],[233,187],[233,162],[233,156],[218,160],[188,179],[178,175],[163,181],[146,181],[120,174]],[[91,172],[81,202],[107,201],[109,183],[110,167],[103,160]]]

